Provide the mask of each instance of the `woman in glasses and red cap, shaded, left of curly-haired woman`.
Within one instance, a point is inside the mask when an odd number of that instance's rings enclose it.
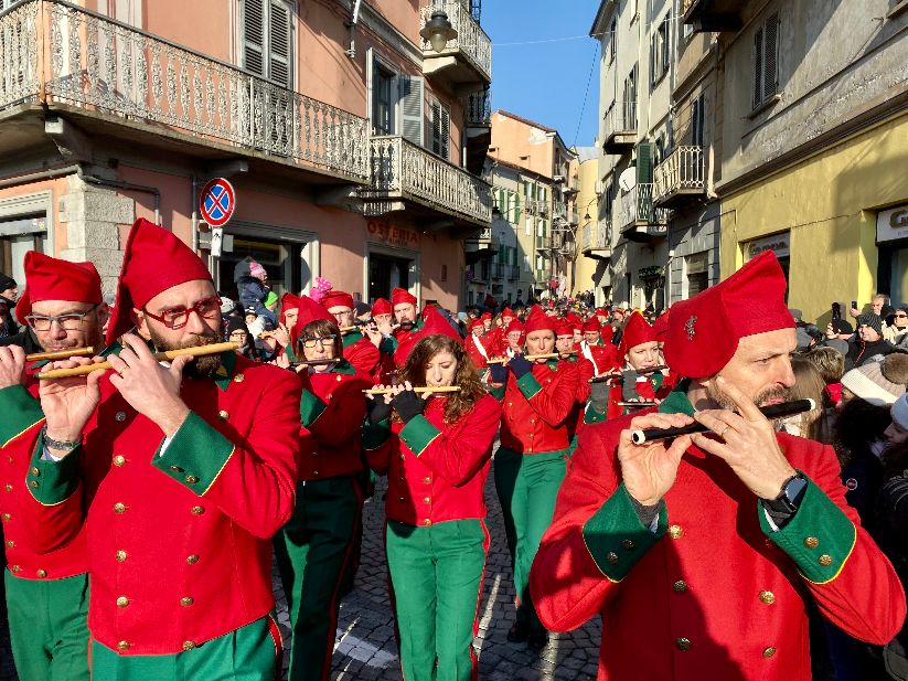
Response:
[[[275,535],[293,636],[291,681],[329,677],[341,583],[356,553],[363,509],[362,391],[372,380],[344,359],[335,315],[323,305],[300,299],[297,354],[323,363],[298,368],[303,390],[297,506]]]

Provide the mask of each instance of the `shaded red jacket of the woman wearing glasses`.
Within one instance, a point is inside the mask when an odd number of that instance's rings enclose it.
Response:
[[[341,362],[330,372],[309,374],[303,384],[299,479],[361,472],[363,390],[372,387],[372,381],[349,362]]]

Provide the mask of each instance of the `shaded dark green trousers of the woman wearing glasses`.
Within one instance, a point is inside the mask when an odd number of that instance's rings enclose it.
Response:
[[[340,592],[362,510],[362,482],[355,476],[300,482],[293,515],[275,535],[293,631],[290,681],[322,681],[331,671]]]

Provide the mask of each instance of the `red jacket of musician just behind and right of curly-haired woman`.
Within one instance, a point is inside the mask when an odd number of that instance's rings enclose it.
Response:
[[[580,374],[577,364],[549,360],[534,364],[520,381],[508,373],[508,384],[492,394],[503,394],[501,446],[519,454],[567,449],[568,416],[577,401]]]

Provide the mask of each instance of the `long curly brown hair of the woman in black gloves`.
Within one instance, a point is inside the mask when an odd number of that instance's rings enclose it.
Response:
[[[470,355],[459,342],[447,336],[424,338],[413,347],[407,361],[398,372],[398,381],[409,381],[414,387],[425,386],[426,364],[439,352],[450,352],[457,360],[453,385],[459,385],[460,391],[449,393],[445,402],[445,423],[457,423],[485,394]]]

